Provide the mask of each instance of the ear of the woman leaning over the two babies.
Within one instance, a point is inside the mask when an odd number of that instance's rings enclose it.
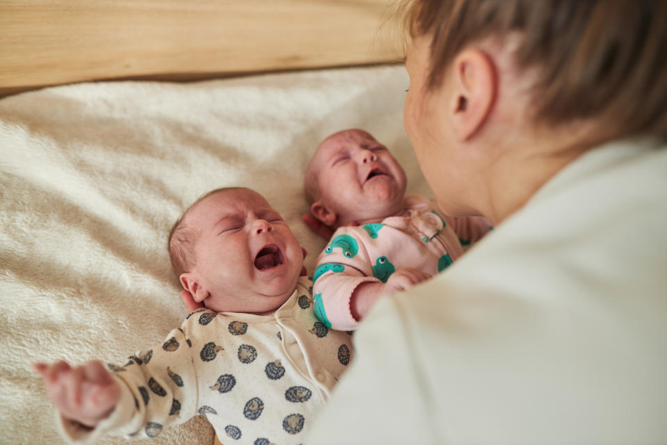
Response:
[[[481,49],[464,49],[454,58],[450,115],[456,138],[470,139],[491,113],[497,95],[495,63]]]

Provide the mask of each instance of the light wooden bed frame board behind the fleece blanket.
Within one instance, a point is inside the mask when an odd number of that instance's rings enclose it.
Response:
[[[0,96],[402,60],[390,0],[8,0]]]

